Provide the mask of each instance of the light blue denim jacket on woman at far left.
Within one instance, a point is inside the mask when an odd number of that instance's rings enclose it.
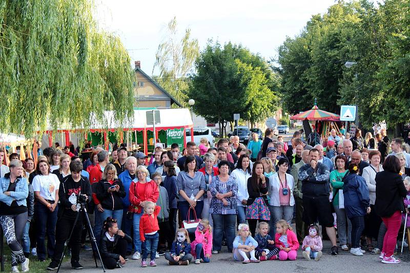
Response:
[[[0,201],[10,206],[11,203],[16,200],[18,206],[26,206],[26,198],[29,195],[29,187],[27,179],[25,177],[17,177],[14,181],[16,183],[16,189],[14,192],[10,192],[10,196],[4,194],[10,185],[10,174],[6,174],[4,177],[0,178]]]

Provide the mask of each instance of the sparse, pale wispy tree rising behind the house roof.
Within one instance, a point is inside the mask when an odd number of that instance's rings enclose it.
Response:
[[[163,41],[158,45],[152,70],[159,69],[155,80],[173,95],[179,103],[187,105],[188,73],[192,72],[195,59],[199,56],[198,40],[191,37],[187,28],[180,39],[176,17],[168,22]]]

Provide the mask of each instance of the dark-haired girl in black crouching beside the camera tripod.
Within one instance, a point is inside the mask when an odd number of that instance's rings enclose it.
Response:
[[[126,263],[127,245],[132,243],[132,239],[118,230],[116,219],[108,217],[103,226],[105,232],[100,240],[101,258],[108,269],[121,268]]]

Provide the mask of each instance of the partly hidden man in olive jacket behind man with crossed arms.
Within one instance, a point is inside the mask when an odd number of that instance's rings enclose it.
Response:
[[[303,165],[309,163],[309,150],[303,150],[302,145],[296,146],[296,149],[301,149],[300,162],[294,164],[291,168],[291,174],[295,181],[295,187],[293,190],[293,196],[295,198],[295,213],[296,213],[296,235],[298,237],[298,241],[302,242],[303,238],[309,234],[308,226],[304,224],[302,220],[303,216],[303,203],[302,203],[302,180],[299,179],[299,169]]]

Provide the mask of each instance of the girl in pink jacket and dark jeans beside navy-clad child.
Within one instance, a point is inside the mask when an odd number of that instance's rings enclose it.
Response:
[[[202,219],[195,231],[195,241],[191,243],[191,254],[195,257],[195,264],[211,261],[212,227],[208,219]]]

